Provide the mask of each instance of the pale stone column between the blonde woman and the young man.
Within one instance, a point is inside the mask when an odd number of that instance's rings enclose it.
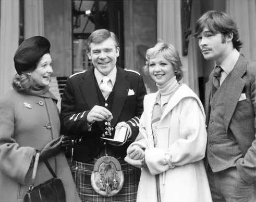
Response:
[[[182,67],[185,69],[182,82],[187,84],[193,91],[199,94],[198,69],[197,66],[194,65],[197,55],[193,54],[190,47],[192,46],[191,36],[189,37],[190,42],[188,55],[182,56],[180,1],[157,1],[157,38],[159,41],[164,41],[175,46],[179,52]]]

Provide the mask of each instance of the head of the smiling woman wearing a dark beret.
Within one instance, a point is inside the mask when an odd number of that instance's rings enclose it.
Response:
[[[42,89],[50,84],[53,73],[50,47],[50,42],[42,36],[33,36],[20,44],[14,55],[15,90]]]

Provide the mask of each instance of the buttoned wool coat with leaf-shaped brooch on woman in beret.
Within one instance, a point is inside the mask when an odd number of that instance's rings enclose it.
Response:
[[[31,184],[34,150],[40,151],[46,143],[59,137],[59,113],[51,97],[53,95],[32,96],[10,90],[0,100],[1,202],[23,202]],[[48,158],[48,162],[63,181],[67,201],[81,201],[64,152]],[[51,173],[40,161],[35,185],[51,178]]]

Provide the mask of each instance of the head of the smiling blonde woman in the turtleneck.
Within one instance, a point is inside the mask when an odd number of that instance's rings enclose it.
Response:
[[[179,53],[171,44],[157,43],[147,50],[144,70],[157,85],[164,85],[173,77],[177,81],[183,77],[183,69]]]

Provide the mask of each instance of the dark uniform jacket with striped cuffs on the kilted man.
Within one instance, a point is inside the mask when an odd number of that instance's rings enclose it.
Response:
[[[95,122],[88,130],[87,115],[95,105],[100,105],[96,91],[94,68],[78,73],[67,79],[64,89],[60,122],[62,131],[69,136],[76,136],[74,160],[86,163],[95,158],[104,149],[104,140],[101,139],[105,131],[104,122]],[[126,156],[130,142],[135,140],[139,132],[139,118],[143,112],[143,99],[147,93],[142,76],[136,72],[117,68],[114,98],[112,103],[112,127],[119,122],[130,125],[131,141],[122,146],[107,144],[110,155]],[[128,92],[133,90],[134,95]],[[133,93],[129,93],[133,94]],[[80,140],[80,141],[79,141]],[[108,151],[107,151],[108,152]]]

